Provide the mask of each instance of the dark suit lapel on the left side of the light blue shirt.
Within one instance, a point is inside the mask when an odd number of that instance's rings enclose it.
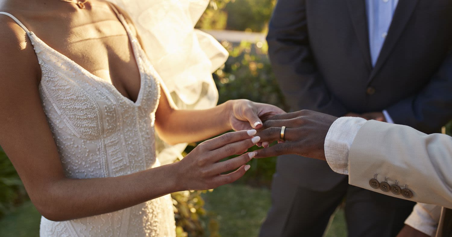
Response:
[[[358,37],[359,48],[363,54],[367,69],[370,71],[372,70],[372,63],[370,58],[365,2],[364,0],[347,0],[347,5],[348,10],[350,11],[353,28]]]

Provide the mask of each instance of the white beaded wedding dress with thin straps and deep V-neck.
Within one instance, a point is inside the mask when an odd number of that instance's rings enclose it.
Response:
[[[118,19],[126,28],[140,71],[136,102],[47,46],[18,22],[38,56],[42,105],[64,172],[70,178],[116,177],[160,165],[154,137],[160,79],[122,15],[118,14]],[[40,234],[175,236],[172,200],[166,195],[113,213],[71,221],[53,222],[42,217]]]

